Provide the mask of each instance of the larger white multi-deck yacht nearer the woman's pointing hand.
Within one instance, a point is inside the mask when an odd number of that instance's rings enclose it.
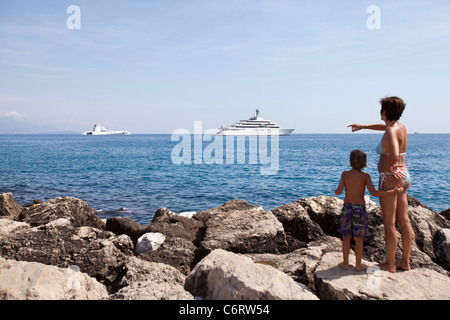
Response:
[[[226,127],[221,127],[217,136],[252,136],[252,135],[280,135],[288,136],[294,129],[284,129],[259,116],[259,110],[248,120],[241,120]]]

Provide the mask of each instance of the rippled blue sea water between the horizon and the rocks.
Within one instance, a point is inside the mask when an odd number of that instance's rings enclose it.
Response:
[[[376,186],[380,138],[280,137],[279,170],[261,175],[264,166],[248,159],[244,164],[174,164],[171,153],[179,142],[171,141],[171,135],[0,135],[0,192],[12,192],[22,205],[74,196],[102,218],[129,216],[142,224],[163,206],[176,213],[201,211],[235,198],[271,210],[305,197],[334,196],[353,149],[367,153],[365,171]],[[409,194],[436,212],[450,207],[449,146],[450,134],[408,137]]]

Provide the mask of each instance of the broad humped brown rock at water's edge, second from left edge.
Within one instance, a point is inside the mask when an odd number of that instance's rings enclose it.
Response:
[[[50,199],[42,204],[23,208],[18,219],[35,227],[60,218],[68,219],[74,227],[105,228],[94,209],[74,197]]]

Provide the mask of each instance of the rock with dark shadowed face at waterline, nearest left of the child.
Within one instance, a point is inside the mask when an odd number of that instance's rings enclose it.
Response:
[[[324,233],[320,226],[311,220],[299,201],[285,204],[272,210],[272,213],[283,224],[289,251],[304,247]]]

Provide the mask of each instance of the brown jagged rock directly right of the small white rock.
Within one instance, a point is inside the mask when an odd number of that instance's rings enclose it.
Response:
[[[197,248],[183,238],[169,238],[157,250],[139,255],[139,259],[161,262],[177,268],[183,274],[191,272]]]

